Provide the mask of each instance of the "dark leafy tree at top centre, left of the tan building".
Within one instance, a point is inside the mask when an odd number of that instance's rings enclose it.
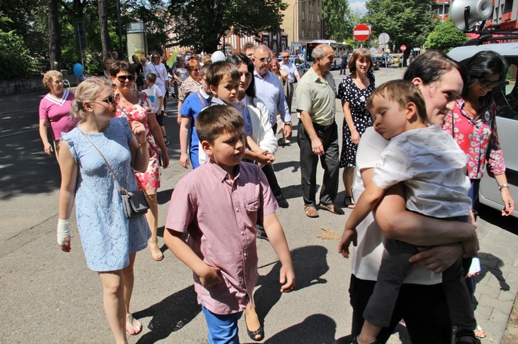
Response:
[[[278,32],[286,8],[281,0],[171,0],[174,43],[213,52],[229,28],[256,37],[263,31]]]

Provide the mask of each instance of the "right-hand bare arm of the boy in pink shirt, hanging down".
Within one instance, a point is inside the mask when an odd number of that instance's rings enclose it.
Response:
[[[280,287],[280,292],[291,292],[295,287],[295,271],[293,269],[293,263],[291,262],[291,254],[289,253],[286,236],[284,235],[284,231],[275,212],[263,216],[262,225],[265,227],[265,232],[271,243],[271,247],[274,247],[274,251],[282,264],[282,267],[280,267],[279,282],[280,284],[284,284]]]

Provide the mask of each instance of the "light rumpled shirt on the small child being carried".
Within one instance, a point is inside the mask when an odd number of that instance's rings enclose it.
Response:
[[[381,153],[372,181],[386,190],[405,183],[406,208],[427,216],[466,216],[471,201],[466,155],[439,125],[408,130]]]

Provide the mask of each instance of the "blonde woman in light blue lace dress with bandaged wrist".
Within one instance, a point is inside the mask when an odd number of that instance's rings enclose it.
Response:
[[[136,252],[146,247],[151,232],[145,216],[126,218],[118,189],[137,188],[131,168],[144,172],[149,152],[144,125],[135,121],[130,129],[126,119],[115,118],[117,101],[108,79],[86,79],[77,88],[70,116],[78,125],[61,141],[57,243],[70,252],[68,228],[75,200],[86,264],[101,279],[104,312],[115,341],[127,343],[125,330],[142,331],[129,303]]]

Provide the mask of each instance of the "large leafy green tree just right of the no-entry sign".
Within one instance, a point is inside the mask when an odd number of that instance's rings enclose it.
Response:
[[[433,0],[368,0],[365,21],[372,25],[372,37],[390,36],[389,46],[421,47],[437,23],[432,20]]]

